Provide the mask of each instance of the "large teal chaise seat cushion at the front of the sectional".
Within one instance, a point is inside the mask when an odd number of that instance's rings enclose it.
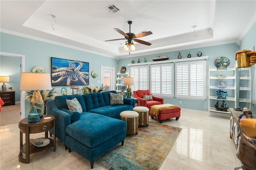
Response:
[[[126,122],[100,114],[83,112],[79,121],[66,128],[66,133],[89,148],[108,141],[126,130]]]

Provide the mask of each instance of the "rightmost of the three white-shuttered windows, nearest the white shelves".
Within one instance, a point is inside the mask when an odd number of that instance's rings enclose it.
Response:
[[[206,100],[206,61],[175,64],[176,98]]]

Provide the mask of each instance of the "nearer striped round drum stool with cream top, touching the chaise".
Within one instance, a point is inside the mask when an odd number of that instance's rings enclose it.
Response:
[[[120,119],[125,121],[127,124],[126,134],[138,134],[138,116],[136,111],[122,111],[120,113]]]

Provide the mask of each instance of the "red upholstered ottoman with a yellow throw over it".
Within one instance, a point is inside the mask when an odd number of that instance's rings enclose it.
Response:
[[[158,116],[151,113],[151,107],[158,107],[158,109],[159,109]],[[170,107],[170,108],[168,108],[168,107]],[[156,119],[159,120],[159,123],[162,123],[162,120],[170,119],[172,117],[176,117],[176,120],[178,120],[180,118],[180,107],[172,105],[172,104],[168,104],[168,106],[166,106],[166,104],[154,105],[154,106],[150,106],[149,114],[152,119],[154,119],[154,117],[156,117]]]

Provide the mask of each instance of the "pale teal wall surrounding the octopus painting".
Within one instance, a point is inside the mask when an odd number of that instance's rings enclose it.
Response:
[[[97,78],[92,78],[92,76],[90,75],[89,86],[100,86],[101,84],[98,83],[98,80],[100,80],[101,76],[100,66],[113,67],[117,69],[116,59],[105,57],[102,55],[96,55],[85,51],[62,47],[60,45],[45,43],[42,41],[19,37],[16,35],[10,35],[2,32],[0,33],[0,41],[1,52],[25,55],[25,72],[32,72],[34,66],[42,66],[46,69],[47,73],[50,73],[51,57],[83,61],[89,63],[90,73],[92,71],[98,72]],[[55,88],[55,91],[59,95],[61,95],[60,89],[62,87],[64,86],[53,86],[52,88]],[[69,88],[69,86],[65,87],[68,89],[68,94],[72,94],[72,90]],[[80,87],[79,92],[82,93],[81,88],[83,86],[78,87]],[[28,114],[28,105],[29,102],[26,101],[25,115]]]

